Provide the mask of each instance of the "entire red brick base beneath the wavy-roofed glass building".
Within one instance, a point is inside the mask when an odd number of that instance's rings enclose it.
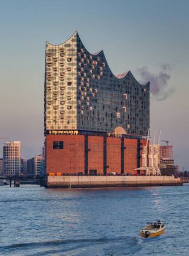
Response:
[[[102,174],[130,173],[142,164],[146,139],[82,135],[47,135],[46,173]],[[143,173],[140,173],[143,174]]]

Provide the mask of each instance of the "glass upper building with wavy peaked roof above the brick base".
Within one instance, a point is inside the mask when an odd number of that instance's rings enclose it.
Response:
[[[149,82],[138,83],[130,71],[115,76],[104,52],[90,54],[77,32],[63,44],[46,43],[44,98],[45,135],[116,127],[147,135]]]

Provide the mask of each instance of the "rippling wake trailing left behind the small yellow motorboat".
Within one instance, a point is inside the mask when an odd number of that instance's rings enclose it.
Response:
[[[139,236],[122,236],[98,239],[57,239],[32,243],[18,243],[0,246],[4,255],[69,255],[69,256],[123,256],[133,255],[141,249],[142,239]]]

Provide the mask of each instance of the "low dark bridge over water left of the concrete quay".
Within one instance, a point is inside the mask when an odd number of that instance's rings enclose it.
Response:
[[[5,179],[9,180],[10,187],[12,185],[12,181],[14,181],[14,186],[15,187],[20,187],[20,183],[22,182],[31,182],[31,181],[36,181],[36,184],[39,184],[41,187],[44,185],[44,180],[45,176],[19,176],[19,175],[5,175],[5,176],[0,176],[0,179]]]

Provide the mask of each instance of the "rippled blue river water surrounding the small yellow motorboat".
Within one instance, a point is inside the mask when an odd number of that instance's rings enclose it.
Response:
[[[148,221],[165,234],[144,239]],[[120,189],[0,187],[0,255],[189,256],[189,185]]]

